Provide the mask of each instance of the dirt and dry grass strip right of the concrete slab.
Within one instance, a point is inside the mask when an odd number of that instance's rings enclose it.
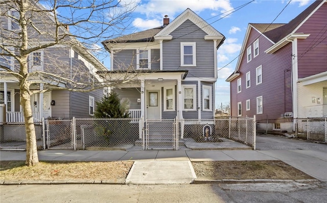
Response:
[[[282,161],[192,162],[198,179],[314,179]]]

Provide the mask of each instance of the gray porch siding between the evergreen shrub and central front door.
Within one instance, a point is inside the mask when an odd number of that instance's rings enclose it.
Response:
[[[113,91],[122,101],[125,99],[129,101],[129,109],[141,109],[141,103],[137,103],[137,99],[141,99],[141,88],[115,88]]]

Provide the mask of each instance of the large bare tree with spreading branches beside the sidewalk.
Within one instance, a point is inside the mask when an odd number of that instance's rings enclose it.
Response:
[[[120,0],[0,2],[0,78],[19,85],[26,128],[26,165],[38,163],[31,95],[54,89],[89,92],[114,85],[97,76],[97,71],[106,69],[88,50],[97,53],[99,42],[120,36],[135,7],[134,2]],[[80,59],[72,68],[69,60],[64,60],[73,53],[72,48],[89,56],[92,65]],[[39,60],[40,52],[44,61]],[[120,81],[134,76],[121,75]]]

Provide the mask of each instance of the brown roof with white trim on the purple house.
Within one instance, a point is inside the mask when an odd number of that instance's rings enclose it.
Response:
[[[251,29],[257,30],[261,35],[265,36],[269,41],[273,43],[272,47],[279,49],[283,47],[287,42],[284,42],[288,35],[294,34],[296,30],[303,24],[322,4],[326,3],[327,0],[316,0],[307,9],[302,11],[294,19],[292,19],[288,24],[251,24],[249,23],[246,30],[246,34],[243,40],[242,49],[240,56],[235,68],[235,71],[226,79],[227,82],[232,81],[239,75],[240,63],[242,61],[245,45],[247,43]],[[277,45],[279,46],[277,47]],[[268,50],[270,50],[269,48]],[[267,52],[267,51],[266,51]]]

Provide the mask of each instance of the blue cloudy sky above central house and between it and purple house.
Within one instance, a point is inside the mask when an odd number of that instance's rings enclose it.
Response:
[[[124,1],[130,2],[131,0]],[[136,1],[139,5],[133,13],[132,30],[134,30],[134,32],[161,26],[162,18],[164,18],[165,15],[168,15],[170,21],[172,21],[186,8],[190,8],[226,37],[224,44],[218,50],[218,69],[223,66],[225,67],[218,72],[218,81],[216,83],[216,108],[218,108],[221,103],[224,105],[229,102],[229,83],[225,82],[225,80],[235,70],[237,63],[237,59],[235,58],[240,54],[248,24],[271,23],[289,2],[289,0],[255,0],[253,2],[251,2],[251,0]],[[224,17],[226,11],[236,10],[238,7],[248,2],[251,3]],[[313,2],[314,0],[292,0],[274,23],[289,22]],[[232,61],[233,59],[235,60]],[[110,67],[110,59],[108,56],[100,60],[104,61],[107,67]]]

